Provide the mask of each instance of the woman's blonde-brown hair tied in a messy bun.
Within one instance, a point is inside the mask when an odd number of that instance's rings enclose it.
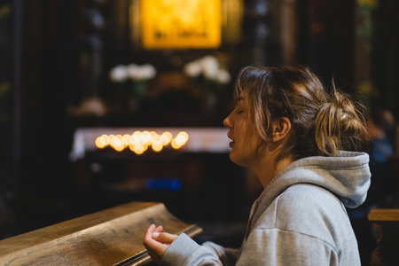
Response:
[[[360,106],[333,83],[328,93],[309,67],[246,66],[235,84],[235,98],[241,94],[262,143],[270,141],[272,121],[280,117],[291,121],[289,140],[284,142],[279,159],[334,156],[340,150],[364,149],[366,129]]]

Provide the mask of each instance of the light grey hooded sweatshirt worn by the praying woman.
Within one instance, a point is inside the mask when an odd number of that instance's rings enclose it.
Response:
[[[367,153],[293,161],[255,200],[239,250],[181,234],[161,264],[360,265],[345,206],[364,202],[370,178]]]

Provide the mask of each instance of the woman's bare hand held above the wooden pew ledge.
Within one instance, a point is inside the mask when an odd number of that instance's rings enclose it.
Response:
[[[160,258],[168,246],[177,238],[176,235],[162,232],[162,225],[156,227],[155,224],[151,224],[150,227],[145,231],[145,238],[143,244],[148,251],[148,254],[153,259],[153,262],[159,263]]]

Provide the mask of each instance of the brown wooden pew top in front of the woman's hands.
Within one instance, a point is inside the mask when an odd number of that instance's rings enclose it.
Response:
[[[202,230],[180,221],[160,202],[130,202],[0,240],[0,265],[144,265],[151,223],[191,237]]]

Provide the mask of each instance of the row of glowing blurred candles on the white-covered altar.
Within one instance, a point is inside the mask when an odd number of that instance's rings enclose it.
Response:
[[[96,146],[103,149],[107,146],[115,151],[121,152],[126,148],[136,154],[142,154],[151,146],[154,152],[159,153],[169,145],[178,150],[183,147],[189,139],[186,132],[180,131],[176,137],[168,131],[158,134],[155,131],[135,131],[133,134],[125,135],[106,135],[103,134],[96,138]]]

